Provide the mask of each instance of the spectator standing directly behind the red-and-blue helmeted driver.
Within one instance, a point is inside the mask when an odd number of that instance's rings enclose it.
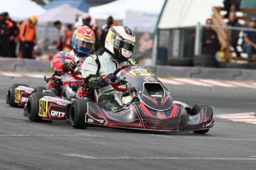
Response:
[[[97,53],[97,51],[99,50],[99,40],[98,40],[98,26],[96,24],[91,24],[91,16],[88,13],[85,13],[82,15],[82,24],[83,26],[88,26],[91,28],[91,30],[93,30],[93,33],[95,34],[95,44],[94,44],[94,53]]]

